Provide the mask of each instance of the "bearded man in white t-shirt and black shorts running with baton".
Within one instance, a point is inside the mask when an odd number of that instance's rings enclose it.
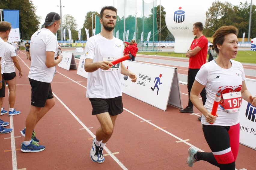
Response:
[[[91,101],[92,115],[96,115],[101,125],[93,139],[90,157],[98,163],[105,160],[102,151],[113,133],[117,115],[123,112],[120,74],[129,76],[132,82],[137,80],[136,75],[122,63],[114,66],[111,63],[111,60],[123,56],[123,42],[113,37],[116,19],[115,7],[103,7],[100,12],[102,31],[91,37],[85,47],[86,97]]]

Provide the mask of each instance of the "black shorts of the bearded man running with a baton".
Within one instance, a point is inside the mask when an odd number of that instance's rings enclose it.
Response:
[[[123,112],[122,96],[115,98],[89,98],[92,103],[92,115],[108,112],[111,116]]]

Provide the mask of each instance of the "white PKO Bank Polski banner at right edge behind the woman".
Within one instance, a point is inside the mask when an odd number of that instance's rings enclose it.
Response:
[[[251,95],[256,95],[256,80],[246,79],[246,87]],[[256,107],[242,100],[240,119],[240,143],[256,150]]]

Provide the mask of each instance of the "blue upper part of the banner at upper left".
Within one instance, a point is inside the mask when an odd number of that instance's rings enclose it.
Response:
[[[12,28],[20,28],[20,10],[4,10],[4,21],[11,23]]]

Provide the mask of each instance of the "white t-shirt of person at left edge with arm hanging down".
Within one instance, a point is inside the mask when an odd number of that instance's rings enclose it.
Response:
[[[16,57],[15,48],[8,42],[6,44],[6,55],[5,55],[5,70],[4,73],[15,72],[14,63],[11,57]]]

